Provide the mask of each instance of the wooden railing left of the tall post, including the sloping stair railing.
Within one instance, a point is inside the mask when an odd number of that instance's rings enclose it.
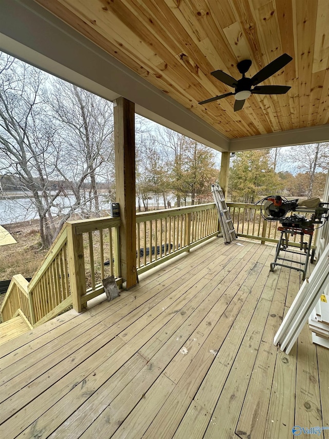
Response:
[[[67,222],[30,283],[21,274],[13,276],[1,309],[3,321],[21,309],[38,326],[71,305],[81,311],[104,292],[104,277],[114,274],[120,284],[119,226],[120,218]]]

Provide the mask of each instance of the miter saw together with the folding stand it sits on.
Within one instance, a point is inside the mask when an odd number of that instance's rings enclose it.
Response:
[[[274,271],[276,265],[281,267],[291,268],[293,270],[298,270],[303,273],[303,280],[306,277],[308,259],[310,255],[310,250],[312,248],[312,238],[315,224],[321,224],[321,227],[325,221],[328,220],[329,208],[325,205],[329,203],[321,203],[320,198],[311,198],[308,200],[300,200],[298,198],[294,200],[287,200],[285,197],[280,195],[273,195],[265,197],[255,204],[261,204],[261,215],[266,221],[279,221],[282,225],[278,227],[278,231],[281,232],[280,239],[277,245],[277,252],[274,262],[270,264],[270,271]],[[289,212],[294,212],[290,216],[287,216]],[[308,215],[301,215],[300,212]],[[318,227],[317,227],[318,228]],[[288,236],[300,235],[300,250],[304,251],[306,256],[305,262],[298,262],[293,259],[287,259],[286,257],[280,257],[280,251],[285,251],[289,253],[297,253],[299,255],[303,254],[301,252],[295,252],[293,250],[287,250],[288,245],[296,247],[295,242],[289,242]],[[308,235],[308,241],[304,241],[304,236]],[[311,264],[314,261],[314,249],[312,250]],[[284,264],[279,264],[277,260],[284,260],[289,262],[294,262],[300,265],[299,267],[292,267]]]

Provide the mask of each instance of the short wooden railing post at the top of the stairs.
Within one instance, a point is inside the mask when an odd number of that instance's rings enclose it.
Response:
[[[81,312],[81,296],[86,293],[83,237],[76,234],[71,223],[67,223],[67,253],[72,304],[77,312]]]

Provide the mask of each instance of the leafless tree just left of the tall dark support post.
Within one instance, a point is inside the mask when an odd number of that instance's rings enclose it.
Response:
[[[99,96],[60,79],[53,81],[52,108],[61,125],[66,152],[74,151],[81,175],[90,179],[89,210],[100,210],[97,177],[114,169],[113,107]]]

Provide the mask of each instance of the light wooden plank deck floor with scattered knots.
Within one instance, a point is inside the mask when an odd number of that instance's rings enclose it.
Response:
[[[115,301],[0,346],[0,437],[284,439],[294,425],[328,427],[329,350],[307,326],[291,355],[272,344],[300,285],[297,271],[269,273],[274,249],[213,239]]]

